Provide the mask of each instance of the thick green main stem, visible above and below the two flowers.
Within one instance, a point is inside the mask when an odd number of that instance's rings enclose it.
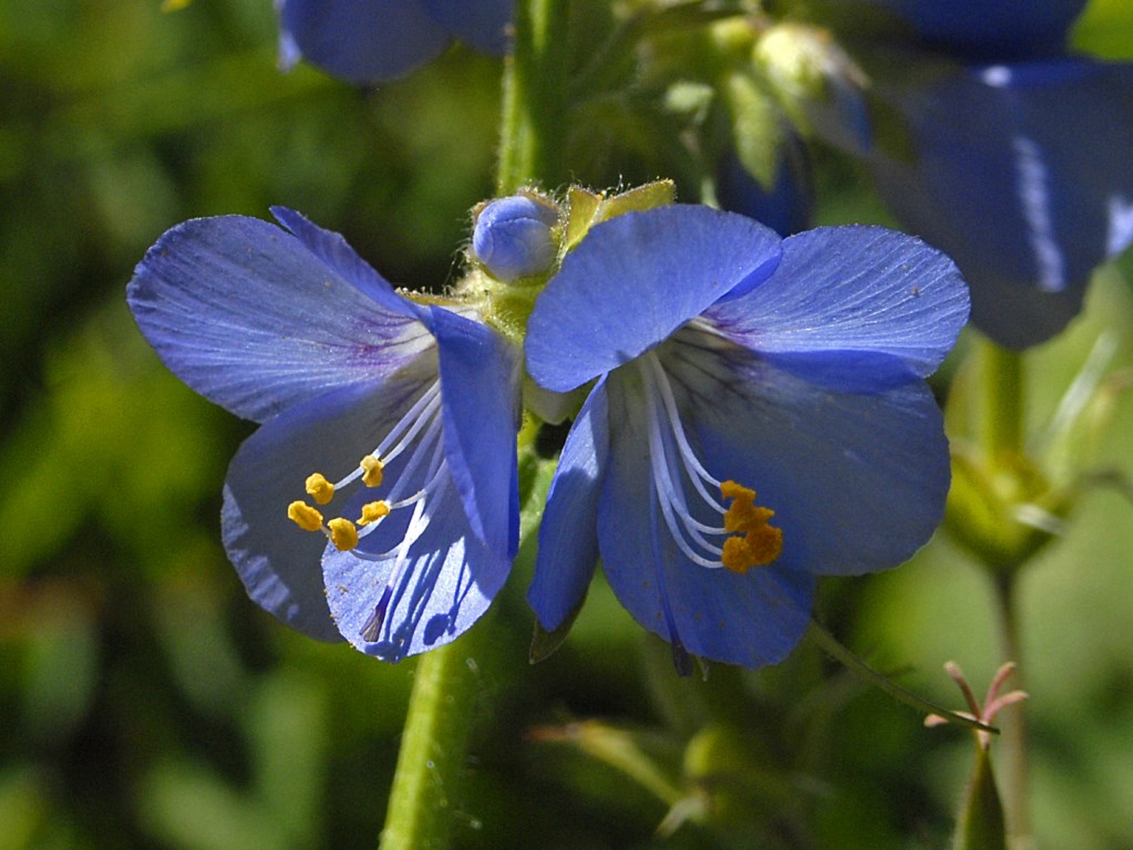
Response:
[[[563,177],[569,10],[569,0],[516,2],[513,55],[504,60],[500,195]],[[487,625],[482,623],[418,661],[382,850],[449,845],[477,702],[476,660],[483,656]]]

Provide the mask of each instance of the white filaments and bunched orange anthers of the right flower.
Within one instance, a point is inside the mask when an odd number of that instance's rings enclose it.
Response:
[[[709,569],[726,567],[744,574],[772,564],[783,551],[783,531],[768,525],[775,512],[756,505],[755,490],[708,473],[684,432],[673,387],[656,353],[644,354],[640,363],[654,490],[676,547],[693,564]],[[719,517],[718,524],[693,515],[705,516],[704,507],[709,516]]]

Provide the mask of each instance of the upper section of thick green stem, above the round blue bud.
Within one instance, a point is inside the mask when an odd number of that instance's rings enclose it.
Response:
[[[496,191],[559,181],[569,92],[569,0],[516,3],[513,55],[505,60]]]

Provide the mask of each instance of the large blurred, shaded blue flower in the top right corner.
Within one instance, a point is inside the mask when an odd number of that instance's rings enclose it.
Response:
[[[1014,349],[1045,342],[1133,240],[1133,65],[1066,55],[1081,0],[878,1],[914,38],[871,43],[861,108],[819,108],[815,127],[956,260],[973,325]]]

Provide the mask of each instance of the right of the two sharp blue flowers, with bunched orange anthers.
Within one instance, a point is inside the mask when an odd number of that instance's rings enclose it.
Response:
[[[881,227],[781,240],[690,206],[595,226],[528,325],[536,383],[596,381],[539,532],[540,625],[577,609],[600,556],[679,670],[784,658],[815,576],[895,566],[939,523],[948,448],[923,377],[966,316],[952,261]]]

